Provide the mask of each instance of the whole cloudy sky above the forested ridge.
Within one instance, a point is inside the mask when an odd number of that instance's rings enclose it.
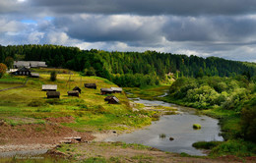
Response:
[[[0,44],[256,62],[256,0],[0,0]]]

